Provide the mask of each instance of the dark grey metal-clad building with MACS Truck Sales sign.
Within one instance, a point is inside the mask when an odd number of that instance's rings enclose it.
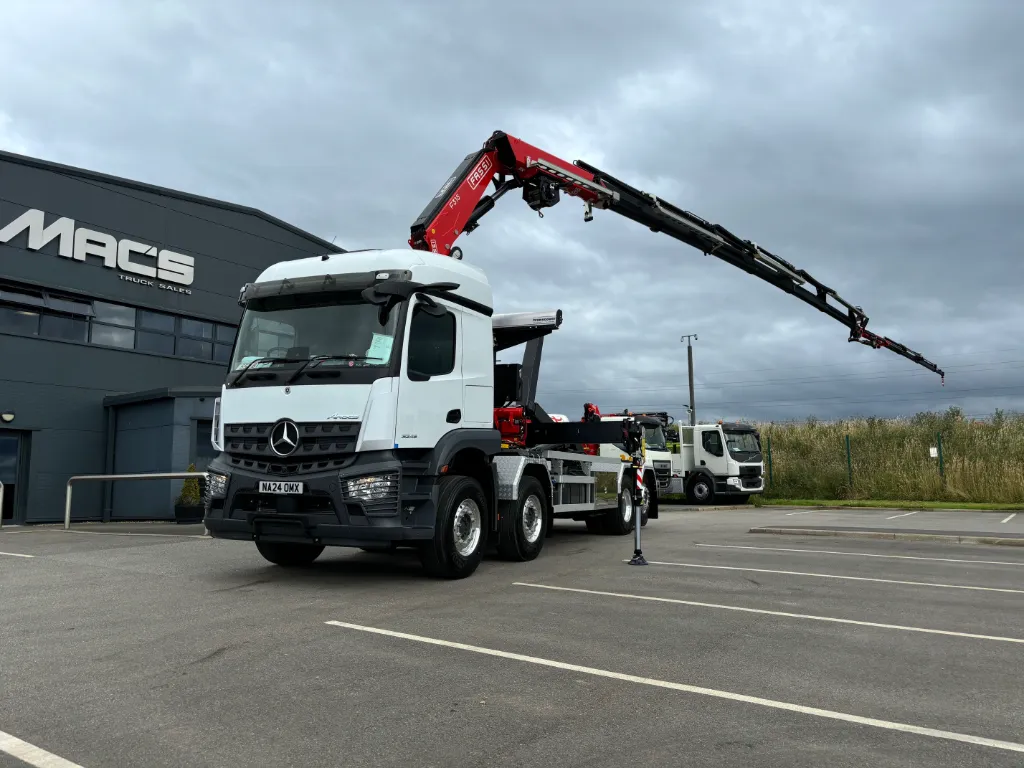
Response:
[[[241,288],[342,249],[242,206],[0,152],[0,482],[63,519],[69,477],[200,471]],[[181,480],[75,484],[74,520],[173,517]]]

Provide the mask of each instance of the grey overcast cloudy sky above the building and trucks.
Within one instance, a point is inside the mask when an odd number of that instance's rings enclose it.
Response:
[[[498,311],[563,310],[551,412],[682,417],[692,333],[700,419],[1024,410],[1017,0],[8,0],[3,26],[0,148],[355,249],[406,247],[501,129],[783,256],[947,374],[613,214],[510,195],[460,245]]]

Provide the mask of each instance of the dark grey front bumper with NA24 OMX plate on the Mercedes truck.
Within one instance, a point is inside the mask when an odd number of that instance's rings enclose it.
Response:
[[[289,476],[248,471],[218,457],[208,470],[206,527],[215,539],[342,547],[430,539],[436,483],[419,469],[389,451],[356,454],[340,469]],[[226,483],[214,482],[213,475]],[[348,480],[368,476],[395,481],[374,498],[349,488]],[[301,482],[302,494],[260,494],[260,480]]]

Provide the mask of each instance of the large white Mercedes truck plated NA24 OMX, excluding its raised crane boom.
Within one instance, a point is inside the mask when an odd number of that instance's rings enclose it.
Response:
[[[633,459],[582,444],[623,443],[642,466],[642,421],[558,423],[535,400],[560,310],[495,315],[481,269],[415,250],[282,262],[240,303],[214,409],[212,537],[280,565],[408,545],[428,572],[463,578],[490,545],[536,558],[557,517],[633,528]],[[522,343],[521,364],[496,364]],[[598,472],[617,504],[598,503]]]

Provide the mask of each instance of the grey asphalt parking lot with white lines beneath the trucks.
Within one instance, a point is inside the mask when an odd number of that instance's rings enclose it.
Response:
[[[4,528],[0,766],[1020,766],[1024,547],[748,532],[1024,523],[895,514],[666,510],[647,567],[565,524],[461,582]]]

